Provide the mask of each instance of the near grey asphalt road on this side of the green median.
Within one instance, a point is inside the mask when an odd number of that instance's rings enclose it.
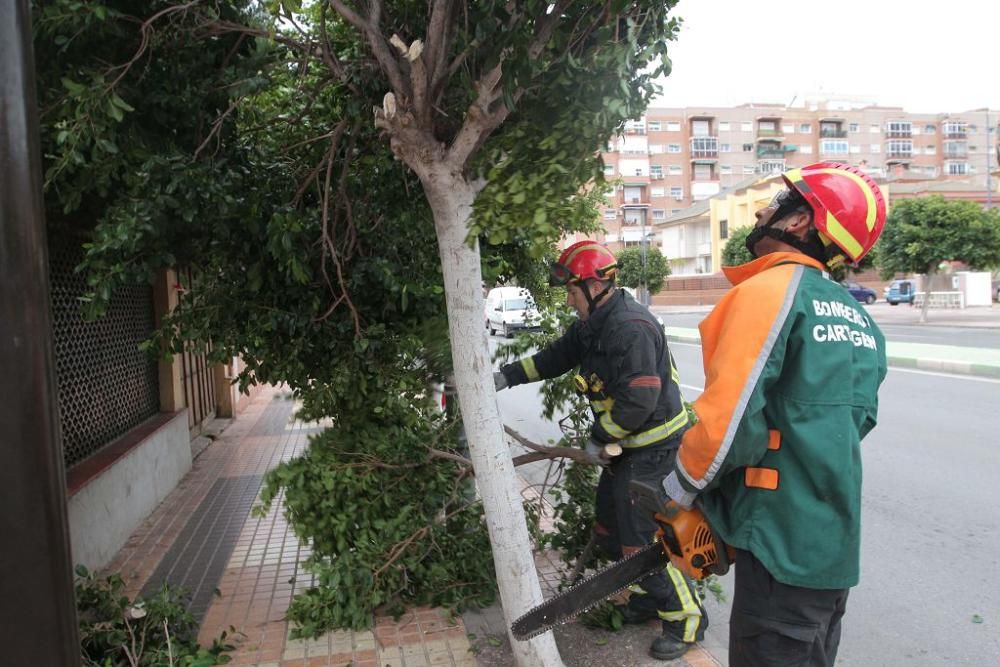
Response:
[[[700,346],[671,348],[693,400],[704,382]],[[558,437],[538,416],[533,386],[499,398],[506,423],[533,440]],[[889,370],[879,425],[863,445],[862,579],[838,665],[1000,664],[998,406],[997,380]],[[522,472],[541,483],[546,467],[534,465]],[[711,643],[725,646],[728,604],[710,614]]]

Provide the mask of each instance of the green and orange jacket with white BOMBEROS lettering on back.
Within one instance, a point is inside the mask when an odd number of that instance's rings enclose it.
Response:
[[[823,266],[772,253],[725,269],[701,323],[705,389],[664,489],[700,497],[727,544],[778,581],[858,582],[861,440],[875,426],[885,338]]]

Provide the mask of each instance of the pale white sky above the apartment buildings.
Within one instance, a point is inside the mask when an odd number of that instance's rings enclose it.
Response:
[[[913,113],[1000,110],[997,0],[680,0],[652,106],[851,95]]]

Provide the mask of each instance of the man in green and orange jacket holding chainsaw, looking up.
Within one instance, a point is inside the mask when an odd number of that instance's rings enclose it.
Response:
[[[701,323],[705,389],[663,487],[736,552],[729,664],[834,664],[858,582],[861,440],[875,426],[885,339],[829,271],[885,225],[878,185],[818,163],[757,212],[754,261]]]

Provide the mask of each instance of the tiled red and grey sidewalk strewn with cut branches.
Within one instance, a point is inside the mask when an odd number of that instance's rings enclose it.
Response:
[[[133,533],[106,571],[121,574],[130,597],[152,592],[164,581],[186,587],[192,594],[190,610],[201,622],[203,644],[230,626],[236,629],[237,648],[229,664],[237,667],[479,665],[479,651],[485,658],[490,651],[484,649],[506,641],[499,607],[466,614],[463,619],[441,609],[420,608],[398,621],[376,616],[369,631],[335,631],[316,640],[289,638],[291,626],[285,612],[292,597],[312,584],[299,569],[309,548],[299,544],[285,521],[281,498],[263,518],[251,516],[250,510],[264,474],[301,453],[309,434],[316,432],[316,424],[295,421],[294,408],[285,392],[261,391],[245,412],[201,450],[191,472]],[[532,490],[525,488],[525,493]],[[552,595],[564,565],[549,553],[538,554],[536,564],[543,591]],[[643,643],[656,633],[652,628],[638,631],[645,633]],[[608,643],[615,641],[612,635]],[[566,647],[565,664],[611,664],[593,661],[601,649],[592,641]],[[573,653],[580,658],[573,659]],[[619,660],[615,667],[666,664],[647,661],[644,645],[632,654],[639,662]],[[724,663],[696,647],[670,664],[716,667]]]

